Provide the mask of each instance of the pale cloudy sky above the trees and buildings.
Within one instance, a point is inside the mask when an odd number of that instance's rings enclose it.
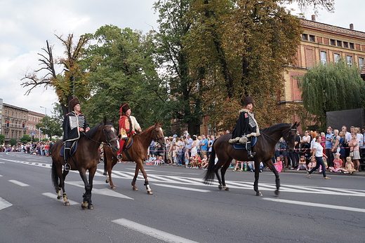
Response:
[[[0,0],[0,98],[6,104],[51,115],[58,102],[52,88],[35,88],[25,95],[21,78],[39,69],[39,55],[46,40],[53,45],[53,55],[61,57],[63,48],[55,34],[81,36],[104,25],[121,29],[158,30],[154,0]],[[290,6],[296,8],[296,5]],[[319,10],[317,22],[365,32],[364,0],[335,0],[335,12]],[[298,13],[298,11],[294,12]],[[314,13],[309,8],[305,18]],[[60,71],[62,67],[60,67]],[[41,108],[44,107],[44,108]]]

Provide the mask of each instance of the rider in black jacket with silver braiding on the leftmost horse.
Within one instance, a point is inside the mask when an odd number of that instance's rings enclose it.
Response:
[[[65,161],[65,170],[71,169],[68,163],[68,158],[71,153],[72,144],[80,138],[80,132],[88,132],[90,127],[83,114],[80,113],[81,106],[79,99],[74,97],[69,101],[70,113],[66,114],[63,119],[63,142],[65,150],[63,160]]]

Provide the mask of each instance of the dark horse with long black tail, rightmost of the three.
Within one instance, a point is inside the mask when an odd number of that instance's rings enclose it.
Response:
[[[260,130],[260,136],[257,138],[255,146],[252,147],[252,151],[256,152],[253,158],[248,158],[246,150],[235,149],[233,144],[228,141],[232,138],[232,134],[225,134],[222,137],[216,139],[213,143],[211,157],[208,162],[208,170],[204,177],[204,183],[213,183],[214,175],[217,175],[219,182],[219,189],[225,188],[225,190],[230,190],[225,184],[225,172],[230,166],[232,159],[239,161],[252,161],[255,164],[255,182],[253,183],[253,190],[255,190],[256,195],[263,195],[258,190],[258,178],[260,174],[260,162],[264,162],[267,167],[269,167],[275,174],[275,182],[277,190],[275,194],[279,195],[280,179],[279,173],[272,163],[272,158],[275,154],[275,144],[279,142],[281,137],[284,137],[286,144],[288,145],[288,151],[294,151],[294,143],[296,140],[297,127],[300,123],[294,123],[293,125],[288,123],[279,123],[272,125],[271,127],[264,128]],[[215,155],[218,158],[218,162],[215,165]],[[220,169],[220,174],[222,179],[218,174],[218,169]]]

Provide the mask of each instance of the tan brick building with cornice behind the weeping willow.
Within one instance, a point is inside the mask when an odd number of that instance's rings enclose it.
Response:
[[[365,60],[365,32],[326,25],[312,20],[302,20],[303,34],[296,54],[296,64],[287,67],[284,72],[285,85],[281,97],[282,105],[302,103],[298,82],[307,73],[308,69],[322,62],[338,62],[343,59],[348,65],[357,65],[364,70]],[[365,80],[365,70],[362,72]],[[294,122],[299,120],[293,115]]]

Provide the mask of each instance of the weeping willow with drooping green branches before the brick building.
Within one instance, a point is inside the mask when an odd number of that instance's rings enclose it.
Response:
[[[326,125],[327,111],[364,108],[365,82],[356,65],[344,60],[317,64],[299,83],[304,108],[319,127]]]

